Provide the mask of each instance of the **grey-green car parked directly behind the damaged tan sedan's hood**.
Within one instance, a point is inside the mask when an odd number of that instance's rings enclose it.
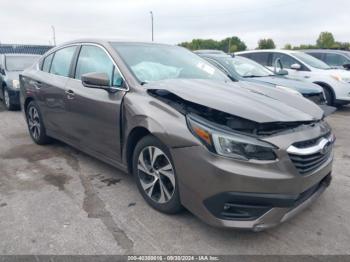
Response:
[[[319,85],[277,75],[251,59],[225,53],[205,52],[203,50],[198,50],[194,53],[221,69],[234,81],[254,82],[264,84],[264,86],[268,85],[269,87],[283,89],[294,95],[302,94],[305,98],[318,105],[323,105],[326,102],[323,89]]]

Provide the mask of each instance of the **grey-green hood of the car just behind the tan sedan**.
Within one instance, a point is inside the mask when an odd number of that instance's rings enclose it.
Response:
[[[279,76],[247,78],[244,80],[254,82],[254,83],[268,83],[273,85],[285,86],[288,88],[292,88],[302,94],[319,94],[323,92],[322,88],[316,84],[303,82],[297,79],[288,79],[288,78],[279,77]]]

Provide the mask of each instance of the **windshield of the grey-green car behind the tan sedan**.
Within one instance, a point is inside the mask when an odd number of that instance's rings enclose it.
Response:
[[[231,74],[238,74],[241,77],[264,77],[271,76],[273,73],[264,66],[245,57],[218,57],[219,63],[224,66]]]

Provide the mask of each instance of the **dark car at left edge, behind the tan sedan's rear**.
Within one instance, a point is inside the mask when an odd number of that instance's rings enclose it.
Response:
[[[38,55],[0,55],[0,98],[7,110],[19,109],[19,74],[39,59]]]

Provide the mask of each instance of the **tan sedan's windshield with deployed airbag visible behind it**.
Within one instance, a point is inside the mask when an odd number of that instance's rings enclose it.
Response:
[[[138,43],[111,44],[142,83],[165,79],[228,80],[218,69],[182,47]]]

